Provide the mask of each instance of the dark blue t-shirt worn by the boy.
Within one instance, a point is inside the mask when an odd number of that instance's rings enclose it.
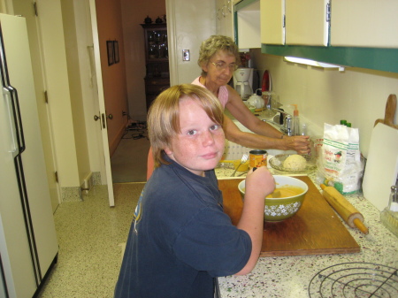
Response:
[[[213,278],[241,271],[251,254],[249,234],[222,202],[214,171],[157,168],[134,213],[115,297],[212,297]]]

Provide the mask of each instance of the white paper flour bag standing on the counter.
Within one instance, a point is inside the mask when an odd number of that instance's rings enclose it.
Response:
[[[341,194],[353,194],[361,188],[364,160],[357,128],[325,123],[317,174],[318,181],[335,187]]]

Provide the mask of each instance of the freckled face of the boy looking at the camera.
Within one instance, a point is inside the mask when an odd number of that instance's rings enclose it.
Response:
[[[224,131],[193,99],[180,102],[181,133],[172,138],[165,153],[188,171],[203,176],[216,167],[224,153]]]

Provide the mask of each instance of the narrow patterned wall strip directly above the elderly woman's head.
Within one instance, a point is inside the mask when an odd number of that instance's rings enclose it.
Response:
[[[217,0],[216,32],[219,35],[226,35],[234,40],[233,28],[233,4],[236,0]]]

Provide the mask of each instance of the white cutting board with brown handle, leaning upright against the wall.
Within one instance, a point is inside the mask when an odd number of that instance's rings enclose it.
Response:
[[[398,126],[394,125],[396,96],[387,98],[383,120],[376,120],[371,132],[362,188],[364,197],[380,211],[388,205],[390,188],[398,175]]]

